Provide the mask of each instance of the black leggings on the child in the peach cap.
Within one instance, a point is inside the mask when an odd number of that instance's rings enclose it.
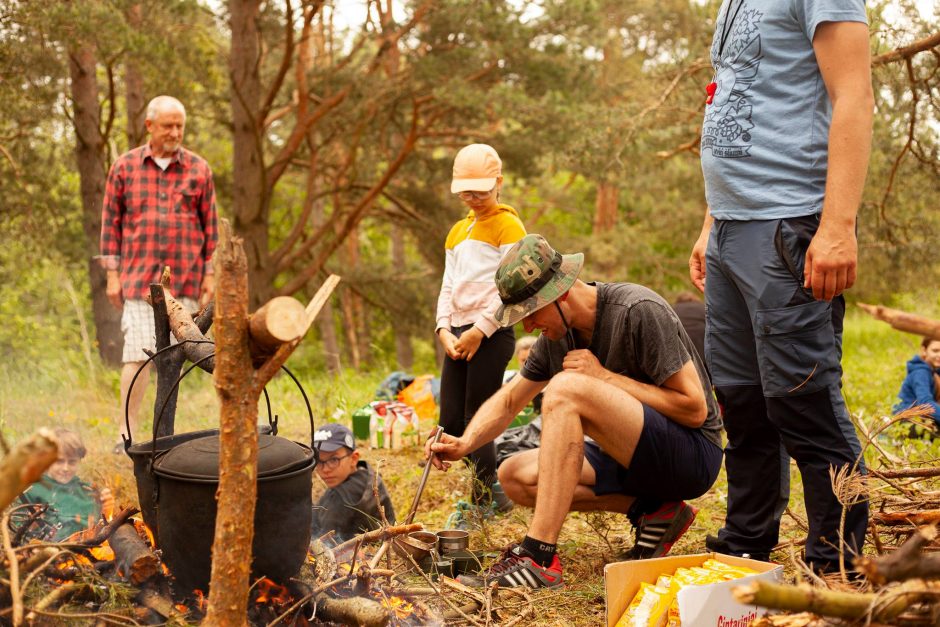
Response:
[[[451,332],[460,337],[472,326],[451,327]],[[440,423],[444,433],[457,437],[463,435],[480,405],[503,384],[503,373],[515,347],[516,334],[512,327],[508,327],[483,338],[470,361],[444,356]],[[496,481],[496,445],[492,442],[484,444],[470,453],[469,461],[476,467],[473,501],[478,503]]]

